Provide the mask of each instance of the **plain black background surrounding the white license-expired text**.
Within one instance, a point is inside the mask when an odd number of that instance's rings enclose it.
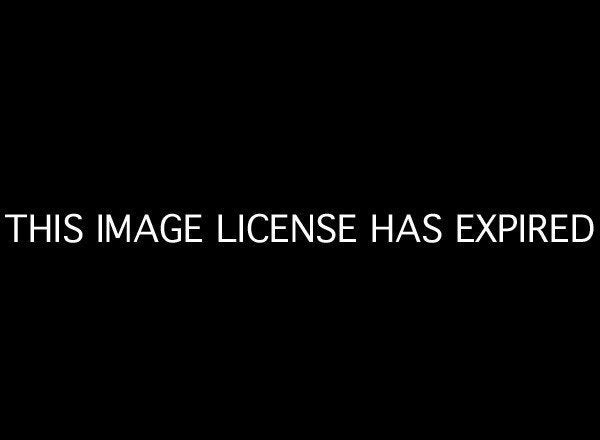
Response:
[[[12,413],[572,429],[594,389],[597,238],[460,246],[453,218],[597,221],[592,29],[539,11],[247,12],[30,11],[3,55],[2,213],[356,212],[361,243],[5,240]],[[440,245],[368,244],[371,213],[428,212]]]

